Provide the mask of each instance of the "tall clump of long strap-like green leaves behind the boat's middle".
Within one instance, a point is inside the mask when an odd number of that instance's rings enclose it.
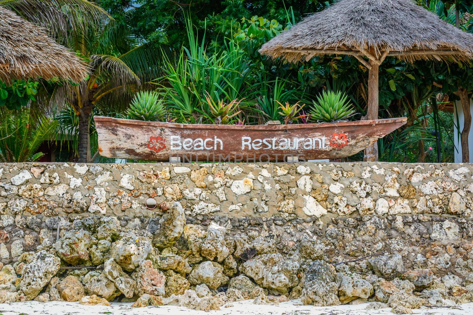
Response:
[[[166,58],[160,85],[165,103],[179,122],[213,122],[206,96],[212,102],[230,103],[242,98],[250,63],[233,42],[207,54],[205,34],[199,43],[193,25],[187,20],[187,46],[173,58]]]

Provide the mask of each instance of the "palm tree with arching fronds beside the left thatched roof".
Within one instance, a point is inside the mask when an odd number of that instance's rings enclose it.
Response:
[[[154,78],[160,60],[157,50],[130,32],[126,17],[117,23],[88,0],[0,0],[0,6],[44,26],[88,63],[90,76],[83,82],[58,82],[50,98],[40,97],[42,104],[38,104],[39,108],[51,108],[51,104],[73,108],[79,118],[78,130],[74,130],[79,133],[79,162],[88,162],[89,120],[94,109],[116,111],[128,105],[128,96]]]

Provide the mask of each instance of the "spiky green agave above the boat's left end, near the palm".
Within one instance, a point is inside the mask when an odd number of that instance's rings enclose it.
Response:
[[[135,95],[127,111],[127,118],[145,121],[158,121],[166,115],[163,99],[154,92],[139,92]]]

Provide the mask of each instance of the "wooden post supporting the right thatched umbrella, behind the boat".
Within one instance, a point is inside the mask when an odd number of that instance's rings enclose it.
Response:
[[[371,69],[368,72],[368,111],[366,119],[378,119],[378,103],[379,103],[379,65],[373,61],[369,61]],[[378,144],[368,146],[365,151],[363,161],[376,162],[378,161]]]

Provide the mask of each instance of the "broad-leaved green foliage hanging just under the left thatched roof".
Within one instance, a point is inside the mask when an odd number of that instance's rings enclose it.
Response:
[[[36,101],[36,93],[38,93],[38,82],[14,80],[11,85],[0,82],[0,107],[5,106],[9,110],[19,110],[30,101]]]

